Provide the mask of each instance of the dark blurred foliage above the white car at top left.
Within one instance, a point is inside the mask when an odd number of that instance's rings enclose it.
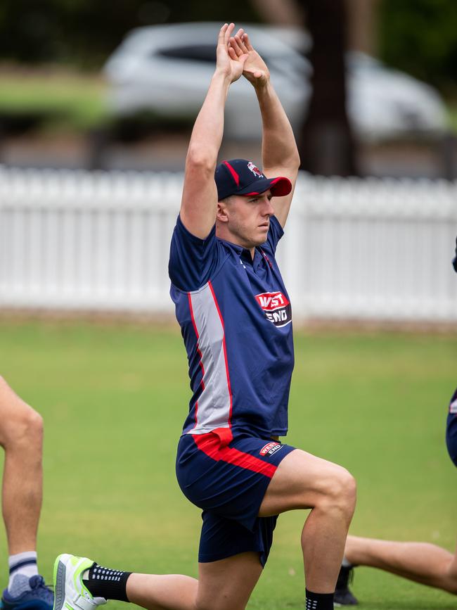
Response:
[[[98,68],[133,27],[200,20],[259,15],[244,0],[1,0],[0,58]]]

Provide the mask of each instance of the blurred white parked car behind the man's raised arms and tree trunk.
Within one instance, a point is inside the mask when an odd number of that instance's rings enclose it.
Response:
[[[159,117],[195,117],[214,71],[219,25],[174,23],[127,34],[105,65],[112,110],[117,115],[150,110]],[[311,96],[312,69],[303,53],[309,37],[297,28],[249,25],[246,30],[297,132]],[[361,139],[445,131],[444,104],[431,87],[363,53],[348,53],[346,65],[349,120]],[[227,136],[259,138],[259,108],[245,79],[231,88],[225,116]]]

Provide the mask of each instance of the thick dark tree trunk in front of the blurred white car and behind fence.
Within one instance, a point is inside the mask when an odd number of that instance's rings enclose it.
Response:
[[[354,137],[346,111],[345,0],[297,0],[313,39],[314,74],[299,142],[302,169],[323,176],[358,174]]]

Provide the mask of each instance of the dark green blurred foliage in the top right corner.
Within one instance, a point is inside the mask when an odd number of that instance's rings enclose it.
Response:
[[[387,63],[457,93],[456,0],[382,0],[379,42]]]

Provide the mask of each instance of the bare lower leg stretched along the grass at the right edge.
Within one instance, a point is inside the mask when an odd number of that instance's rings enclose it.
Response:
[[[348,536],[345,557],[457,595],[457,549],[452,554],[427,542],[393,542]]]

